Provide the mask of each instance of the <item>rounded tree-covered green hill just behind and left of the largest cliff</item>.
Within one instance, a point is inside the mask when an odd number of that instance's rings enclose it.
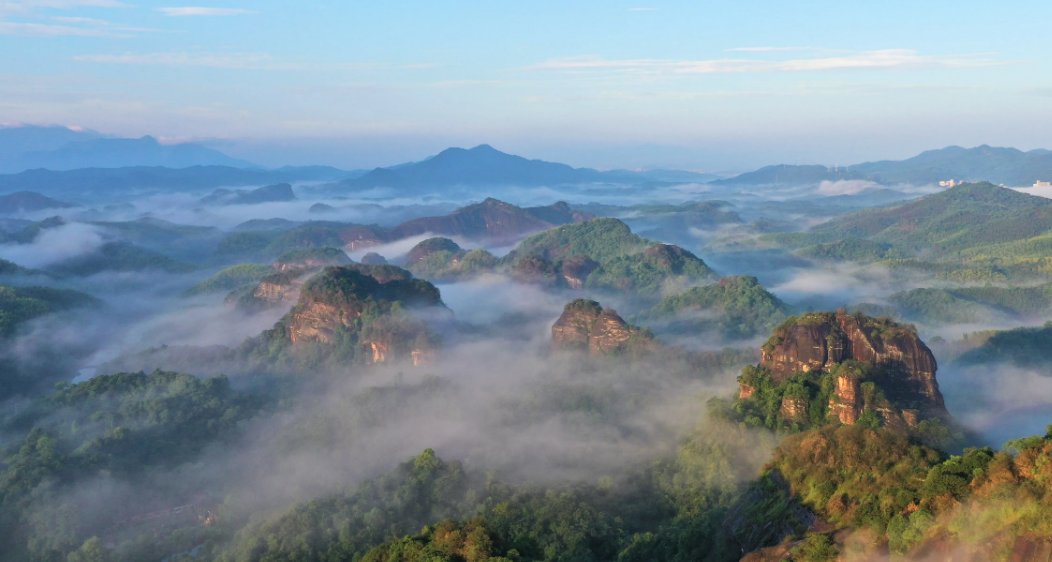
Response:
[[[788,318],[790,310],[756,278],[741,276],[666,297],[650,310],[632,317],[632,321],[650,325],[659,333],[714,329],[727,339],[745,339],[770,332]]]

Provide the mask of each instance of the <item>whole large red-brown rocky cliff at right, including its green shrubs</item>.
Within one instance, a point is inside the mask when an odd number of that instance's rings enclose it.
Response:
[[[739,379],[739,399],[755,400],[760,388],[778,395],[788,423],[864,421],[906,431],[925,419],[951,421],[935,358],[912,326],[843,309],[809,313],[775,328],[762,352]]]

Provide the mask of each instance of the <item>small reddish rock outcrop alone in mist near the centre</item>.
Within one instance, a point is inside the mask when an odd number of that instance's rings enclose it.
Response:
[[[585,350],[590,355],[641,353],[655,342],[649,330],[624,321],[613,308],[587,299],[570,302],[551,326],[553,349]]]

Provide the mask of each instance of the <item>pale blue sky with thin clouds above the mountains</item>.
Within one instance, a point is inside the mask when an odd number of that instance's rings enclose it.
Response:
[[[1052,3],[0,0],[0,123],[345,168],[1052,148]]]

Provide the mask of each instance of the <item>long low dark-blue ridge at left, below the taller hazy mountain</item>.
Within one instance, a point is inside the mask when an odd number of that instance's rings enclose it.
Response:
[[[112,200],[129,193],[200,192],[217,187],[256,186],[294,181],[332,181],[352,173],[326,166],[286,167],[277,170],[241,169],[230,166],[128,166],[88,167],[54,172],[28,169],[0,175],[0,192],[38,192],[52,197],[84,197]]]

